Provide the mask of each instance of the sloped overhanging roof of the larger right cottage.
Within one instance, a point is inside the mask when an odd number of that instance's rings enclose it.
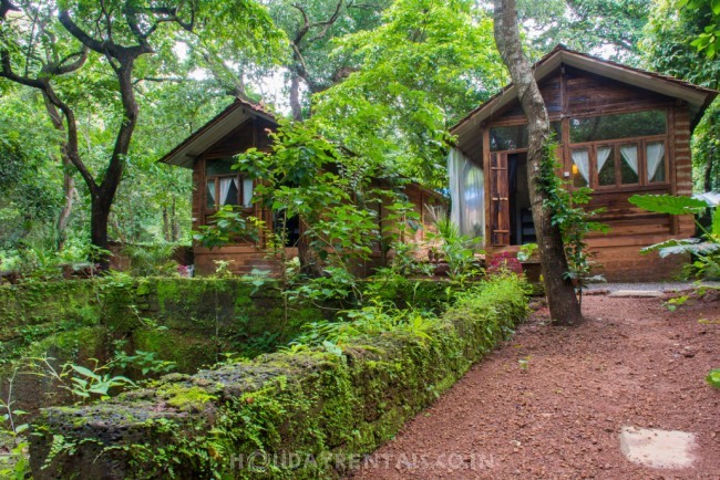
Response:
[[[605,76],[618,82],[680,98],[690,105],[691,122],[695,126],[704,113],[704,109],[718,95],[712,88],[693,85],[689,82],[659,73],[623,65],[617,62],[603,60],[597,56],[570,50],[558,44],[547,55],[533,65],[535,80],[541,82],[560,65],[569,65],[589,73]],[[476,126],[490,118],[494,113],[517,100],[515,86],[511,83],[491,97],[487,102],[470,112],[450,132],[459,136],[459,144],[463,144],[467,135],[476,135]]]

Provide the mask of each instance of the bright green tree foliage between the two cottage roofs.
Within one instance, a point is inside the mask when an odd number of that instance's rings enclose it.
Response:
[[[370,165],[440,186],[448,127],[506,79],[492,35],[471,1],[395,1],[338,42],[333,58],[358,67],[316,95],[313,117]]]

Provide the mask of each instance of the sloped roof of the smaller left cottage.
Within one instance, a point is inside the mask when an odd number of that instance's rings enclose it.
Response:
[[[235,102],[189,137],[185,138],[158,161],[193,168],[193,163],[198,155],[251,117],[264,118],[272,124],[277,123],[275,116],[264,109],[261,105],[250,103],[243,98],[235,98]]]

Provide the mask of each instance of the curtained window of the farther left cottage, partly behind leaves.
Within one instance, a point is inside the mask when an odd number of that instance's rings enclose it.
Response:
[[[232,159],[207,160],[205,164],[206,206],[214,210],[218,206],[253,206],[253,179],[233,170]]]

